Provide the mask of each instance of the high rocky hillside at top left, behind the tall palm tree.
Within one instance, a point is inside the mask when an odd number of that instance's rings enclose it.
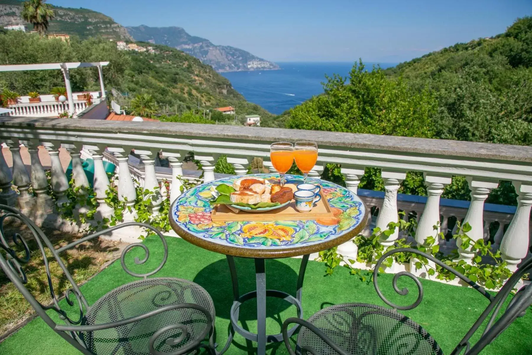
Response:
[[[10,24],[25,24],[28,30],[33,29],[32,24],[20,17],[21,4],[18,0],[0,0],[0,28]],[[50,21],[49,33],[77,35],[80,38],[102,36],[115,40],[133,40],[121,24],[102,13],[54,5],[52,9],[55,11],[55,18]]]

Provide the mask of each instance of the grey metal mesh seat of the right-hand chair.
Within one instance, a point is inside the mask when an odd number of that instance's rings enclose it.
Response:
[[[351,355],[443,354],[420,325],[401,313],[373,304],[331,306],[315,313],[308,321]],[[301,353],[303,346],[310,346],[321,355],[337,354],[305,327],[297,337],[298,352]]]

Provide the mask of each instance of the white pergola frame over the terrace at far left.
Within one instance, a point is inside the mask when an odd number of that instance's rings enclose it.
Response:
[[[76,68],[98,68],[98,77],[100,81],[100,89],[102,96],[105,97],[105,87],[103,85],[102,67],[109,64],[109,62],[94,62],[94,63],[43,63],[43,64],[14,64],[14,65],[0,65],[0,71],[24,71],[24,70],[52,70],[59,69],[63,72],[65,79],[66,96],[68,97],[68,110],[71,115],[74,114],[74,100],[72,97],[72,87],[70,86],[69,69]]]

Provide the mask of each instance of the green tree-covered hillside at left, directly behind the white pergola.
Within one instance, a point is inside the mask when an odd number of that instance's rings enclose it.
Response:
[[[123,104],[127,105],[137,94],[149,94],[159,111],[168,108],[176,112],[177,108],[178,113],[193,109],[203,112],[232,105],[237,107],[239,116],[256,113],[264,118],[272,117],[260,106],[246,102],[229,80],[210,65],[174,48],[153,47],[153,54],[118,51],[114,42],[103,38],[72,37],[70,43],[66,43],[36,34],[7,31],[0,34],[0,64],[110,61],[104,67],[105,85],[108,92],[114,88],[123,95],[123,98],[117,97]],[[72,70],[70,78],[73,91],[99,89],[95,70]],[[7,88],[21,95],[32,91],[44,94],[54,86],[64,86],[59,70],[0,73],[0,91]]]

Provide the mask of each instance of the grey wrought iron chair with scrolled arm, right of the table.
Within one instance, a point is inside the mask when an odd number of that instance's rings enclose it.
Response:
[[[529,259],[507,280],[496,296],[492,296],[483,287],[472,282],[469,278],[447,266],[431,255],[415,249],[399,248],[385,253],[377,262],[373,270],[373,285],[379,297],[393,309],[375,306],[366,303],[338,304],[320,310],[308,321],[300,318],[288,318],[282,325],[282,334],[285,345],[290,355],[297,354],[340,354],[340,355],[373,355],[373,354],[402,354],[402,355],[440,355],[443,354],[437,342],[425,329],[410,318],[398,313],[397,310],[409,310],[417,307],[423,298],[423,287],[411,273],[402,271],[393,278],[394,291],[400,295],[408,294],[408,289],[400,290],[397,279],[408,276],[414,280],[418,287],[418,298],[409,306],[398,306],[390,302],[378,286],[378,270],[386,258],[399,252],[411,252],[425,257],[438,266],[447,269],[455,276],[467,282],[489,300],[488,307],[469,329],[451,355],[476,355],[491,343],[504,329],[517,317],[525,315],[532,304],[532,287],[523,286],[506,307],[505,311],[497,318],[505,300],[517,285],[521,277],[532,269],[532,259]],[[480,339],[472,346],[469,343],[471,336],[479,329],[484,320],[492,313]],[[296,351],[292,348],[288,337],[288,327],[295,323],[301,326],[297,335]]]

